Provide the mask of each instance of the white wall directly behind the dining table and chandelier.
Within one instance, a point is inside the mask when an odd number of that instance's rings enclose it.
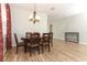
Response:
[[[32,11],[33,12],[33,11]],[[25,32],[47,32],[47,15],[45,13],[39,13],[40,22],[33,24],[30,22],[29,17],[31,12],[28,10],[19,9],[11,6],[11,21],[12,21],[12,45],[15,45],[13,33],[18,34],[20,39],[25,36]]]

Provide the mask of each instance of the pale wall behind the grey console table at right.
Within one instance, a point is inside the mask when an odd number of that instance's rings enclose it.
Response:
[[[80,43],[87,44],[87,12],[63,19],[48,19],[53,23],[54,39],[64,40],[64,32],[79,32]]]

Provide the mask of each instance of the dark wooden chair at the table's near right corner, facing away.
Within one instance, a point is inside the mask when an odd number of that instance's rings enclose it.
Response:
[[[48,52],[51,51],[50,48],[50,33],[43,33],[43,36],[42,36],[42,53],[44,52],[44,46],[48,46]]]

